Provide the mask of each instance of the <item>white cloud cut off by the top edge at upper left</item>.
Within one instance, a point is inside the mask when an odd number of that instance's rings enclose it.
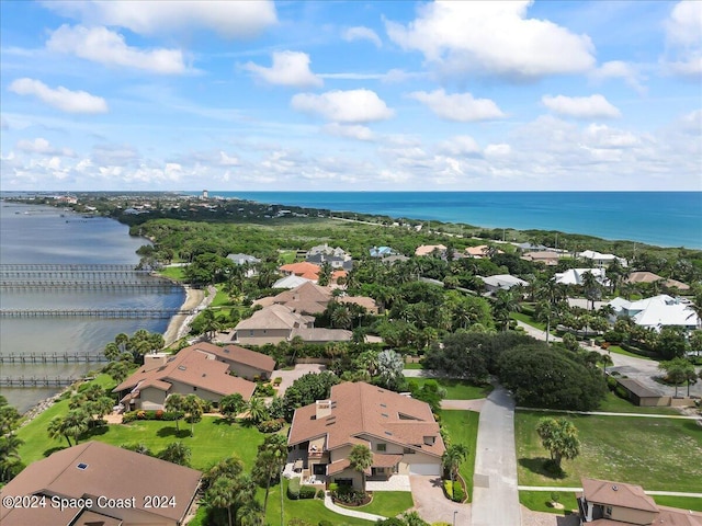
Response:
[[[251,37],[278,22],[271,0],[50,0],[46,8],[90,25],[126,27],[141,35],[210,30],[225,37]]]

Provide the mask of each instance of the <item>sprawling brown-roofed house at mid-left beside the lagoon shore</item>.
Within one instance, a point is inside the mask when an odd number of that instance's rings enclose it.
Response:
[[[256,384],[231,376],[229,365],[216,357],[212,347],[203,344],[185,347],[174,355],[147,354],[144,365],[112,392],[120,393],[121,402],[129,410],[163,409],[166,399],[173,393],[197,395],[215,403],[235,393],[249,400]]]

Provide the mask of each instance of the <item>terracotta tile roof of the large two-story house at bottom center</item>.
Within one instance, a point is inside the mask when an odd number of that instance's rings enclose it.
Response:
[[[381,389],[362,381],[344,382],[331,388],[331,415],[316,419],[316,404],[295,411],[288,444],[295,445],[327,435],[327,449],[375,436],[440,457],[444,444],[429,404]],[[423,444],[423,436],[434,443]]]

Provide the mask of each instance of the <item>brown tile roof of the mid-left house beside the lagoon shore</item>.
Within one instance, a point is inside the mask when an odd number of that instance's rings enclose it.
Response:
[[[199,345],[202,346],[202,344]],[[180,381],[224,396],[238,392],[245,400],[249,400],[256,390],[256,384],[230,376],[227,364],[208,358],[199,352],[197,345],[193,345],[169,357],[163,365],[147,364],[141,366],[115,387],[112,392],[134,388],[141,390],[147,386],[168,392],[172,381]]]

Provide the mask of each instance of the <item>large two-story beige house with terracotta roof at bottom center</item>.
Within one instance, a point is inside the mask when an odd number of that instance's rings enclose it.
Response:
[[[445,447],[426,402],[359,381],[336,385],[328,400],[295,410],[287,445],[303,479],[361,488],[348,459],[356,444],[373,453],[369,480],[441,474]]]

